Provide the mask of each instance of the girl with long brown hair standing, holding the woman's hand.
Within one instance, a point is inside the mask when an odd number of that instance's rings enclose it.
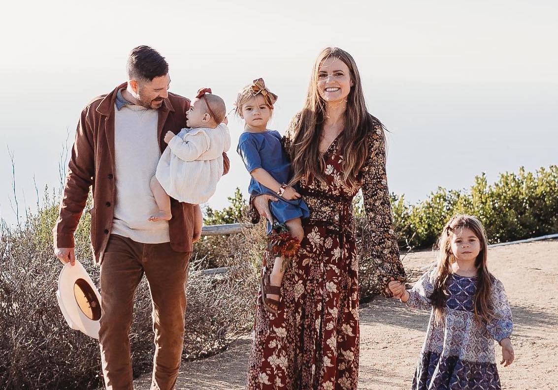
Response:
[[[394,298],[432,309],[413,390],[500,389],[494,342],[501,364],[513,362],[512,313],[502,282],[487,269],[487,238],[480,221],[456,215],[438,241],[439,258],[412,290],[389,282]]]

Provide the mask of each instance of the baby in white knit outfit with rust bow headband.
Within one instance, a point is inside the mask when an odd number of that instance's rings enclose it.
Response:
[[[230,148],[229,129],[225,123],[225,102],[211,94],[209,88],[200,89],[190,110],[186,126],[175,135],[165,134],[169,144],[151,178],[151,191],[159,211],[150,221],[171,219],[170,197],[177,201],[205,203],[215,193],[223,175],[223,152]],[[196,223],[200,216],[196,215]]]

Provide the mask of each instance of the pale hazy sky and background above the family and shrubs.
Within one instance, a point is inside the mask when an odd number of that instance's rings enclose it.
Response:
[[[10,2],[0,24],[0,217],[35,209],[60,186],[59,163],[83,107],[127,80],[138,45],[161,52],[170,91],[211,87],[232,109],[263,77],[283,133],[327,46],[357,62],[369,112],[389,130],[388,184],[409,202],[462,189],[485,172],[558,163],[558,5],[551,1]],[[235,152],[209,206],[227,206],[249,175]]]

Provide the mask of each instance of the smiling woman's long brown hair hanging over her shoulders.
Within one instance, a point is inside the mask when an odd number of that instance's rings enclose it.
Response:
[[[318,71],[320,65],[330,57],[339,58],[348,66],[353,86],[347,96],[345,126],[339,135],[340,153],[343,155],[343,181],[347,187],[357,184],[357,177],[368,156],[368,131],[381,122],[368,114],[362,92],[360,74],[353,57],[338,47],[326,47],[316,58],[306,103],[295,125],[294,138],[291,143],[291,163],[295,173],[291,183],[298,182],[302,177],[325,181],[325,160],[319,150],[320,138],[326,116],[326,106],[318,92]]]

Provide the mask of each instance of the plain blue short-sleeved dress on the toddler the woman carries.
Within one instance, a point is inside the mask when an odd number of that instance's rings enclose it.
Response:
[[[237,152],[249,173],[256,168],[263,168],[281,184],[288,183],[291,179],[291,163],[281,146],[281,135],[277,131],[245,131],[238,140]],[[308,206],[302,199],[288,201],[281,198],[275,191],[258,183],[254,178],[250,181],[248,192],[251,196],[269,194],[278,198],[277,202],[270,202],[270,209],[273,217],[280,223],[310,216]],[[270,230],[271,225],[268,223],[268,231]]]

